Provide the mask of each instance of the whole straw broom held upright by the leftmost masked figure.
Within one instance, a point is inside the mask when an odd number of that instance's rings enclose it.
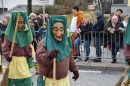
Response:
[[[17,18],[17,22],[16,22],[15,32],[14,32],[14,36],[13,36],[13,42],[12,42],[11,51],[10,51],[10,55],[9,55],[10,57],[12,57],[12,52],[13,52],[13,48],[14,48],[14,41],[15,41],[16,33],[17,33],[19,15],[20,15],[20,11],[18,11],[18,18]],[[10,62],[8,63],[8,66],[5,70],[5,73],[4,73],[0,86],[8,86],[9,65],[10,65]]]

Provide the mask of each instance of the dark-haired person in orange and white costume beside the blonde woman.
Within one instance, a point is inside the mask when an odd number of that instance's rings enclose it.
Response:
[[[82,13],[83,12],[79,10],[78,6],[73,6],[72,12],[74,13],[74,16],[72,18],[71,25],[70,25],[70,31],[72,33],[72,37],[71,37],[71,40],[72,40],[72,55],[73,56],[80,56],[80,53],[78,53],[76,51],[76,49],[74,48],[74,41],[79,36],[76,33],[76,30],[79,28],[79,26],[82,23],[82,20],[83,20]]]

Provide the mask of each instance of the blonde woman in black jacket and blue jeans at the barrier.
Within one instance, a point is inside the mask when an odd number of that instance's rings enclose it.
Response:
[[[83,40],[83,36],[86,32],[91,31],[93,27],[92,21],[91,21],[91,17],[89,14],[85,14],[82,24],[79,26],[79,31],[81,34],[81,40]],[[91,42],[91,33],[87,33],[85,34],[85,41],[84,41],[84,45],[86,47],[86,59],[85,61],[89,60],[89,54],[90,54],[90,42]],[[80,50],[79,50],[79,45],[80,45],[80,38],[78,37],[75,41],[74,41],[74,46],[76,51],[79,53],[80,55]]]

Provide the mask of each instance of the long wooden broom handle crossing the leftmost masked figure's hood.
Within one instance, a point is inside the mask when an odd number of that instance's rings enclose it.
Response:
[[[10,54],[9,54],[9,57],[10,57],[10,58],[12,58],[12,53],[13,53],[13,49],[14,49],[14,41],[15,41],[16,33],[17,33],[17,27],[18,27],[19,15],[20,15],[20,11],[18,11],[18,17],[17,17],[16,26],[15,26],[15,31],[14,31],[14,36],[13,36],[13,41],[12,41],[11,51],[10,51]],[[9,64],[10,64],[10,62],[9,62]],[[9,64],[8,64],[8,67],[7,67],[7,68],[9,68]]]

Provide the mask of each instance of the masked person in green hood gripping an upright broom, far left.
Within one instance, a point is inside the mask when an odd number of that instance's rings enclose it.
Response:
[[[18,22],[17,27],[16,22]],[[17,28],[17,33],[14,41],[14,49],[12,57],[9,57],[15,27]],[[18,12],[13,12],[5,31],[4,45],[2,48],[3,56],[10,62],[8,86],[32,86],[32,75],[27,62],[27,59],[32,57],[32,41],[33,37],[26,12],[20,12],[19,17]]]

